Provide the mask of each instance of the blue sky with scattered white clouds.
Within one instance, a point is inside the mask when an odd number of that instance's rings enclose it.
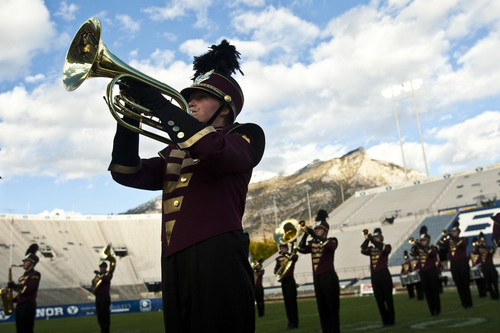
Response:
[[[429,176],[500,161],[497,0],[0,0],[0,213],[118,214],[160,195],[107,171],[110,79],[62,85],[93,16],[113,54],[178,91],[194,56],[236,46],[237,121],[267,141],[252,182],[359,147]],[[141,137],[141,157],[163,146]]]

